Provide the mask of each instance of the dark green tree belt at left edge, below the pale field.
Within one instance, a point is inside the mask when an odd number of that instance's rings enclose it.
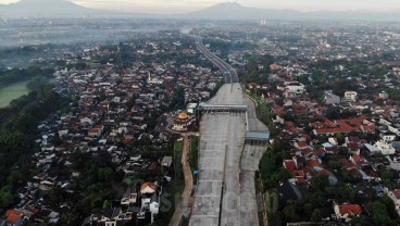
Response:
[[[42,86],[0,110],[0,212],[14,203],[13,191],[35,173],[29,155],[39,122],[67,102],[51,86]]]

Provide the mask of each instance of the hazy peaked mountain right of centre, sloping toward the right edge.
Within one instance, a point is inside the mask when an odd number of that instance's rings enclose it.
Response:
[[[360,21],[400,21],[400,13],[362,11],[317,11],[299,12],[295,10],[267,10],[240,5],[236,2],[220,3],[203,10],[187,13],[184,16],[209,20],[360,20]]]

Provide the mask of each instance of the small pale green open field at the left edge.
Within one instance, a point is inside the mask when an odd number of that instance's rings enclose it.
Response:
[[[27,95],[29,90],[26,88],[28,80],[15,83],[0,88],[0,108],[9,105],[9,103],[23,95]]]

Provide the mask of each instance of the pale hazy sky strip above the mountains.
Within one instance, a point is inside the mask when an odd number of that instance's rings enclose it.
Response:
[[[17,0],[0,0],[0,3]],[[140,11],[146,13],[178,13],[199,10],[227,0],[71,0],[84,7]],[[229,0],[228,0],[229,1]],[[232,1],[232,0],[230,0]],[[397,11],[400,12],[400,0],[237,0],[246,7],[264,9],[292,9],[299,11]]]

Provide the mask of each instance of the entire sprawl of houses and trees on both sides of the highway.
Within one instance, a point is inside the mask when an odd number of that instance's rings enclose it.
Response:
[[[23,147],[29,156],[0,177],[10,185],[0,188],[0,226],[168,225],[184,162],[199,173],[186,136],[198,136],[198,108],[227,73],[197,50],[195,36],[234,66],[270,129],[254,178],[259,225],[398,225],[399,34],[361,22],[221,22],[34,59],[50,65],[51,87],[33,100],[50,106]],[[26,115],[2,115],[30,125]],[[18,147],[7,138],[10,150]]]

